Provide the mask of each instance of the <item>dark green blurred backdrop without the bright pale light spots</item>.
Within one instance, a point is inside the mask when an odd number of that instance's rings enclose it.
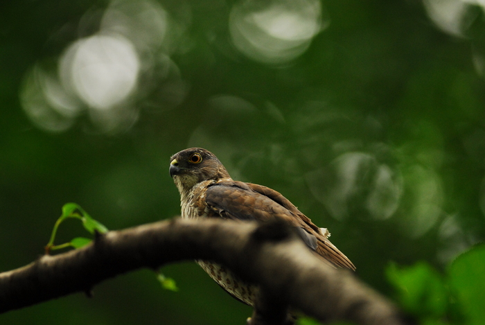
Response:
[[[110,134],[87,114],[65,132],[40,130],[19,100],[34,64],[52,65],[71,42],[96,32],[80,35],[75,26],[108,3],[0,4],[0,271],[42,254],[66,202],[109,229],[176,216],[168,158],[188,146],[213,151],[234,178],[283,193],[330,229],[362,280],[387,294],[389,261],[441,268],[484,239],[485,82],[473,64],[484,53],[478,8],[468,8],[465,37],[455,37],[434,26],[419,1],[325,1],[330,25],[308,50],[267,64],[232,46],[233,2],[160,3],[174,17],[191,15],[190,46],[170,54],[186,96],[157,106],[157,87],[139,89],[139,120]],[[55,36],[66,26],[70,32]],[[360,158],[354,182],[337,172],[342,161]],[[382,166],[401,193],[388,218],[367,207]],[[339,186],[352,189],[340,201],[332,196]],[[434,216],[429,229],[426,211]],[[85,234],[69,220],[57,242],[75,236]],[[93,299],[72,295],[0,315],[0,323],[245,324],[251,313],[194,263],[164,273],[179,292],[162,290],[141,270],[96,286]]]

